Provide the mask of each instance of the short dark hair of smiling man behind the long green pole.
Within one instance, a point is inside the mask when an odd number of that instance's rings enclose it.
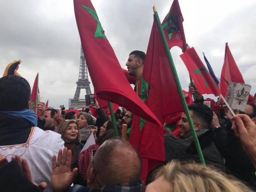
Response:
[[[188,109],[193,111],[193,115],[203,121],[202,123],[205,123],[206,127],[204,128],[208,128],[211,125],[213,117],[213,111],[211,108],[201,103],[195,103],[189,105]]]

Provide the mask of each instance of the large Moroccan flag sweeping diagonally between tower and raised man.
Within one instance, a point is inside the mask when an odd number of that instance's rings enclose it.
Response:
[[[74,10],[84,57],[94,91],[98,97],[119,104],[132,111],[133,114],[151,122],[161,124],[133,91],[124,76],[92,2],[90,0],[74,0]]]

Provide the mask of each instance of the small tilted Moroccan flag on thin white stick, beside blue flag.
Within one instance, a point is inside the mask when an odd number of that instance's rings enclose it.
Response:
[[[180,57],[185,63],[198,92],[201,94],[214,94],[215,96],[220,95],[218,85],[205,68],[204,63],[200,60],[194,47],[187,49]]]

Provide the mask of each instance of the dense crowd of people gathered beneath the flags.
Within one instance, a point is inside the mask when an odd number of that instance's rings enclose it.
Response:
[[[138,94],[144,60],[144,52],[133,51],[126,63],[128,71],[124,70]],[[37,116],[30,109],[30,94],[25,78],[0,78],[1,191],[256,190],[254,103],[232,116],[221,100],[205,99],[211,101],[211,107],[204,105],[204,97],[189,85],[184,96],[206,166],[200,164],[187,115],[177,113],[174,123],[164,124],[165,162],[142,181],[141,156],[129,143],[133,111],[117,109],[112,122],[97,100],[92,106],[96,117],[84,110],[63,115],[38,102]],[[127,124],[126,138],[121,137],[122,124]],[[95,144],[84,149],[91,134]]]

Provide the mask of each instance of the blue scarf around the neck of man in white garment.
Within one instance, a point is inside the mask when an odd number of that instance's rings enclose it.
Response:
[[[32,126],[37,126],[37,115],[36,113],[31,109],[23,109],[21,111],[0,111],[0,113],[4,113],[7,115],[15,116],[21,119],[25,119],[29,121]]]

